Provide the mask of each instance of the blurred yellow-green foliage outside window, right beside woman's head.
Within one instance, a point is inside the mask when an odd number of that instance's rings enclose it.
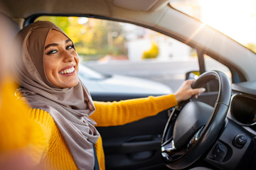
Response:
[[[83,60],[98,60],[105,55],[127,55],[123,28],[118,22],[65,16],[41,16],[37,20],[51,21],[60,27],[73,40]]]

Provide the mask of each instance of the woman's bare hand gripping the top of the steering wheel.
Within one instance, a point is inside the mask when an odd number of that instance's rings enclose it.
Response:
[[[195,80],[194,79],[186,80],[178,88],[178,90],[174,94],[178,103],[181,101],[188,100],[188,98],[191,98],[191,96],[194,96],[195,98],[197,98],[199,94],[203,93],[203,91],[206,91],[206,89],[204,88],[192,89],[191,85],[193,84],[193,81]]]

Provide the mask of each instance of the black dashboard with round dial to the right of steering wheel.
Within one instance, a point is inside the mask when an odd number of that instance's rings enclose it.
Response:
[[[206,162],[219,169],[256,169],[256,81],[232,84],[227,117]],[[216,159],[219,146],[225,157]]]

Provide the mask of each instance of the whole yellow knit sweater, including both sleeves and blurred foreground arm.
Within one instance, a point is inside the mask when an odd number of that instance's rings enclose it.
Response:
[[[13,93],[14,91],[11,91]],[[1,107],[0,149],[1,151],[33,146],[33,158],[40,162],[41,169],[78,169],[75,161],[58,130],[53,118],[46,111],[32,108],[30,115],[28,107],[14,96],[3,95],[4,107]],[[6,97],[7,96],[7,97]],[[156,115],[160,111],[176,106],[174,95],[149,96],[126,101],[98,102],[95,101],[96,111],[90,118],[97,126],[124,125],[136,120]],[[9,109],[10,115],[6,115]],[[14,119],[15,118],[15,119]],[[9,121],[10,120],[10,121]],[[11,135],[10,135],[11,134]],[[96,152],[100,169],[105,169],[105,157],[101,137],[97,141]]]

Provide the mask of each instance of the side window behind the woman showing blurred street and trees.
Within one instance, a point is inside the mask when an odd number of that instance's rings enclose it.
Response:
[[[85,70],[82,74],[97,72],[80,77],[94,81],[93,84],[85,83],[90,92],[112,89],[123,93],[128,91],[122,89],[125,82],[129,88],[148,88],[147,83],[139,81],[141,79],[158,81],[168,86],[169,92],[175,92],[185,80],[186,72],[198,70],[196,50],[148,28],[85,17],[41,16],[36,20],[55,23],[73,40],[82,67],[89,69],[82,68]],[[113,77],[118,77],[119,82]],[[139,79],[129,79],[131,77]],[[111,83],[99,85],[103,82],[100,79],[111,78]],[[113,89],[114,83],[119,85]],[[153,83],[149,85],[152,91],[163,88]]]

